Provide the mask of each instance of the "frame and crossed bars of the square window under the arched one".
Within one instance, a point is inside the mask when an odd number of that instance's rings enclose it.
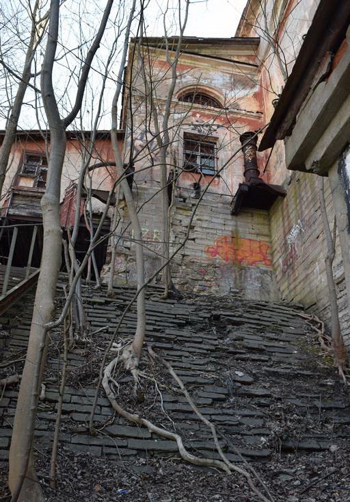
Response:
[[[193,149],[187,148],[187,142],[196,143],[196,147]],[[204,146],[204,149],[202,148]],[[212,152],[208,152],[207,147],[213,148]],[[189,162],[187,160],[187,155],[196,156],[196,162]],[[205,162],[202,162],[205,158],[211,158],[213,160],[213,166],[208,166]],[[212,138],[211,136],[205,136],[202,134],[191,134],[184,133],[183,135],[183,171],[187,173],[200,173],[204,176],[216,176],[217,175],[217,138]],[[191,167],[192,166],[192,167]]]

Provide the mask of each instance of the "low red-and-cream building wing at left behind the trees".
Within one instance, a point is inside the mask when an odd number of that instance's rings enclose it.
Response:
[[[3,139],[0,132],[0,145]],[[74,225],[75,207],[77,200],[77,179],[84,163],[83,152],[89,141],[89,131],[80,133],[68,132],[67,149],[61,185],[61,224],[64,238]],[[122,148],[123,132],[119,133],[120,147]],[[47,158],[49,145],[49,131],[21,131],[16,134],[16,141],[12,147],[10,165],[3,186],[1,200],[1,260],[7,264],[11,245],[13,255],[12,266],[29,268],[40,266],[42,252],[42,213],[40,199],[46,188]],[[108,131],[98,131],[94,142],[94,152],[91,160],[91,190],[94,194],[92,201],[92,225],[96,225],[103,211],[105,202],[113,180],[116,178],[113,165],[94,166],[103,159],[104,162],[113,160],[113,153]],[[113,164],[113,163],[112,163]],[[82,194],[80,209],[79,238],[77,240],[78,259],[86,253],[90,243],[89,224],[84,214],[84,194]],[[102,235],[109,232],[110,222],[105,221]],[[12,244],[13,242],[13,244]],[[33,246],[31,246],[33,244]],[[96,247],[95,257],[98,271],[105,264],[107,254],[107,240]],[[62,260],[64,263],[64,260]]]

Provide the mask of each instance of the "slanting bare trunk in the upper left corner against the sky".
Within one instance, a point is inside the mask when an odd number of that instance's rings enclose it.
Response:
[[[41,34],[38,34],[38,21],[36,21],[36,15],[38,14],[39,0],[33,7],[33,17],[31,20],[31,33],[29,38],[29,44],[27,52],[25,54],[25,64],[23,67],[23,72],[21,79],[18,84],[16,97],[14,98],[14,103],[11,108],[10,116],[6,121],[5,125],[5,135],[3,136],[3,143],[0,150],[0,195],[3,190],[3,183],[5,181],[6,170],[8,168],[8,160],[10,158],[11,147],[16,138],[16,129],[18,125],[18,119],[21,114],[21,108],[23,105],[23,99],[25,97],[25,92],[27,90],[29,80],[31,79],[31,62],[33,61],[34,54],[36,52],[36,47],[38,46],[38,41],[41,40],[42,34],[44,33],[44,26],[46,25],[47,14],[39,21],[39,23],[44,23],[40,29]],[[39,40],[36,41],[36,38]]]

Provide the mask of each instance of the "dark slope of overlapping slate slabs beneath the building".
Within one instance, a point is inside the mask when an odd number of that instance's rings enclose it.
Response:
[[[129,288],[116,288],[116,296],[110,299],[105,290],[85,289],[90,333],[107,326],[108,332],[106,329],[87,336],[70,352],[60,436],[61,445],[77,453],[114,460],[121,456],[131,464],[140,456],[176,455],[175,442],[114,416],[103,391],[94,417],[98,432],[96,436],[87,432],[98,362],[132,295]],[[172,364],[202,414],[217,425],[230,460],[241,461],[235,449],[246,460],[269,462],[276,451],[344,447],[350,432],[349,401],[334,369],[325,366],[317,355],[314,332],[299,315],[301,308],[241,298],[193,296],[163,301],[156,288],[149,288],[146,297],[148,344]],[[32,302],[33,293],[29,293],[21,305],[0,319],[3,361],[25,351]],[[135,325],[133,306],[119,338],[131,338]],[[53,438],[58,399],[55,379],[57,365],[62,364],[54,336],[49,353],[46,398],[40,403],[36,429],[38,449],[49,446]],[[193,413],[165,368],[154,364],[146,351],[141,370],[157,377],[162,401],[154,381],[148,379],[142,380],[144,402],[136,403],[131,396],[131,377],[120,371],[116,376],[120,404],[157,425],[178,431],[192,453],[217,458],[210,431]],[[0,403],[3,460],[8,457],[16,396],[17,390],[8,388]]]

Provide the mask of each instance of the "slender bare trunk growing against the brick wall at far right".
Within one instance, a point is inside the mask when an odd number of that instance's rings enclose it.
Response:
[[[339,322],[338,299],[336,294],[336,283],[333,275],[333,262],[336,255],[336,219],[334,218],[334,232],[333,236],[329,228],[329,221],[327,217],[327,210],[325,205],[325,187],[323,177],[320,179],[320,208],[323,221],[323,231],[327,243],[327,255],[325,257],[325,273],[327,277],[327,286],[329,294],[329,307],[331,310],[331,323],[332,323],[332,346],[334,351],[334,364],[338,367],[339,375],[345,379],[344,366],[347,360],[344,342]]]

